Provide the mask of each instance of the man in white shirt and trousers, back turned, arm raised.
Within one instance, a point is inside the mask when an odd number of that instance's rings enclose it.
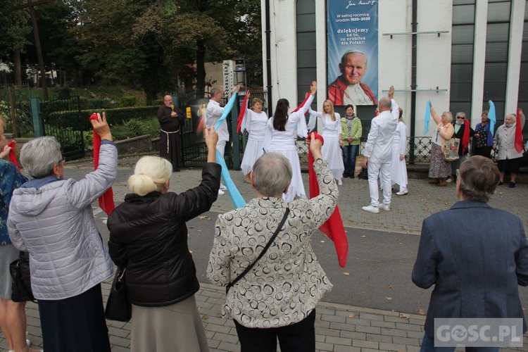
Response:
[[[379,99],[379,115],[372,119],[367,144],[363,149],[363,168],[368,165],[368,188],[370,206],[362,209],[379,213],[379,209],[391,210],[391,163],[392,142],[398,125],[398,104],[394,101],[394,87],[389,89],[389,98]],[[368,163],[367,163],[368,162]],[[377,178],[381,172],[383,203],[378,202]]]

